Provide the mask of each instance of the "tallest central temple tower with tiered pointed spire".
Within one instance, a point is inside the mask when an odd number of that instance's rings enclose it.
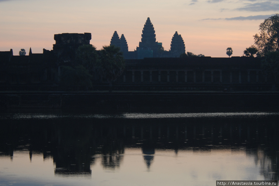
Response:
[[[159,48],[161,48],[161,45],[156,41],[155,30],[148,17],[142,30],[141,42],[139,42],[139,47],[137,47],[138,58],[156,57]]]

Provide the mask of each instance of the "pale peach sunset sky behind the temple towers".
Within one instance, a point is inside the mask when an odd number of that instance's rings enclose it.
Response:
[[[165,50],[177,31],[188,52],[228,57],[231,47],[242,56],[259,24],[276,13],[278,0],[0,0],[0,51],[42,53],[52,50],[54,34],[84,32],[99,50],[114,31],[134,51],[149,17]]]

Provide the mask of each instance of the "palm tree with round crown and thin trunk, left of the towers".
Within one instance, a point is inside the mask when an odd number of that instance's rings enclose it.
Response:
[[[114,45],[103,46],[100,50],[100,60],[95,67],[99,74],[109,82],[109,91],[112,91],[112,82],[120,76],[125,69],[125,62],[119,47]]]

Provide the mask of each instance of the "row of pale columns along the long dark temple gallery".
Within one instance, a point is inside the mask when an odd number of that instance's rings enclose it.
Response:
[[[258,83],[267,82],[261,70],[131,70],[122,75],[123,83]]]

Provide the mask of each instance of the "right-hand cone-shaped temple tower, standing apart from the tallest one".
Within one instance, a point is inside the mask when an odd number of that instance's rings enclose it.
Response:
[[[176,31],[171,39],[170,55],[172,57],[179,57],[182,53],[185,53],[184,40],[182,39],[180,34],[178,35]]]

